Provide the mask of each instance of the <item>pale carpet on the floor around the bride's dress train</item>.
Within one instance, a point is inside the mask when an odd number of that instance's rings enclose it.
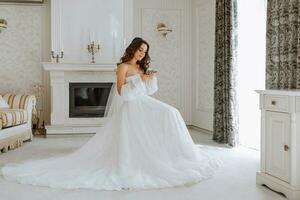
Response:
[[[0,200],[283,200],[281,195],[255,184],[259,152],[217,145],[211,136],[190,130],[195,143],[207,146],[212,156],[223,159],[213,178],[192,186],[139,191],[63,190],[9,182],[0,177]],[[21,148],[0,154],[0,165],[72,152],[91,135],[34,138]]]

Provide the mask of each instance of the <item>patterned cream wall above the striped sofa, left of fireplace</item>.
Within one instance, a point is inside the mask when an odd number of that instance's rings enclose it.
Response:
[[[0,33],[0,94],[33,93],[44,81],[41,62],[50,58],[49,3],[0,3],[0,13],[8,23]]]

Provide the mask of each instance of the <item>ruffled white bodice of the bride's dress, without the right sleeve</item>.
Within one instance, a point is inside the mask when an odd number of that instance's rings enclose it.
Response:
[[[124,101],[131,101],[145,93],[146,88],[140,76],[130,79],[121,89],[121,97]]]

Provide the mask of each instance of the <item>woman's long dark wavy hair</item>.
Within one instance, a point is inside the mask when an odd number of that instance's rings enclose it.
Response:
[[[140,66],[140,68],[146,72],[149,64],[150,64],[150,56],[149,56],[149,44],[144,39],[140,37],[134,38],[129,46],[126,48],[124,55],[121,57],[120,62],[117,63],[117,65],[120,65],[122,63],[128,62],[131,60],[135,54],[135,52],[142,46],[142,44],[145,44],[147,46],[147,51],[145,53],[144,58],[141,61],[137,61],[137,64]]]

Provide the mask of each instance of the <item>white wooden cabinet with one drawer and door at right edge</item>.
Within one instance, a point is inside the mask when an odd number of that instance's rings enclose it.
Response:
[[[256,183],[300,200],[300,90],[257,90],[261,158]]]

